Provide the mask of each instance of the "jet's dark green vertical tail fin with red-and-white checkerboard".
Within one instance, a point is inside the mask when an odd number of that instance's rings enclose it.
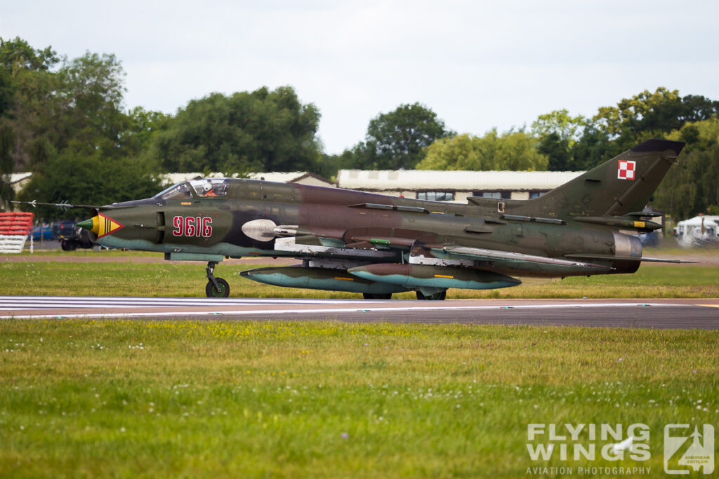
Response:
[[[626,215],[644,209],[659,182],[676,163],[681,141],[651,139],[590,169],[546,195],[530,200],[533,213]]]

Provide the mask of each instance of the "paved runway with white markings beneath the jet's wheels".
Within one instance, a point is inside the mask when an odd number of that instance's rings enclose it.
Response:
[[[719,329],[719,299],[362,299],[0,297],[0,318],[340,320]]]

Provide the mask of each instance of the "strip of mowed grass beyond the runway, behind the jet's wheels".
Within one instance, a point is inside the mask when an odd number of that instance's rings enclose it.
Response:
[[[203,297],[201,263],[0,263],[0,294]],[[273,287],[237,273],[260,266],[219,264],[215,273],[230,284],[232,297],[359,298],[361,295]],[[395,298],[413,299],[413,293]],[[449,289],[449,298],[659,298],[719,297],[719,267],[644,264],[635,274],[569,277],[541,284],[485,291]]]

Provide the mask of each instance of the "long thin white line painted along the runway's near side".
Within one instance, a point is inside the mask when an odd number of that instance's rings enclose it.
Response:
[[[407,302],[413,304],[413,302]],[[629,308],[629,307],[688,307],[690,304],[669,304],[669,303],[558,303],[558,304],[516,304],[516,305],[487,305],[487,306],[454,306],[454,305],[434,305],[427,304],[423,306],[402,306],[394,307],[342,307],[342,308],[298,308],[298,309],[242,309],[242,310],[204,310],[204,311],[138,311],[138,312],[114,312],[104,311],[102,313],[91,312],[60,312],[49,315],[3,315],[0,319],[49,319],[49,318],[97,318],[97,317],[167,317],[167,316],[248,316],[248,315],[308,315],[308,314],[343,314],[343,313],[377,313],[377,312],[446,312],[446,311],[482,311],[482,310],[556,310],[569,308]],[[67,306],[65,306],[67,307]],[[26,310],[37,308],[27,307]],[[159,309],[159,307],[158,307]],[[18,311],[18,310],[15,310]],[[22,310],[21,310],[22,311]]]

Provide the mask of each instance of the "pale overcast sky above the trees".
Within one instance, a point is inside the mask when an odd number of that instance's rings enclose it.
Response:
[[[0,36],[114,53],[127,108],[291,85],[338,153],[419,101],[449,129],[530,126],[658,86],[719,100],[719,1],[3,1]]]

